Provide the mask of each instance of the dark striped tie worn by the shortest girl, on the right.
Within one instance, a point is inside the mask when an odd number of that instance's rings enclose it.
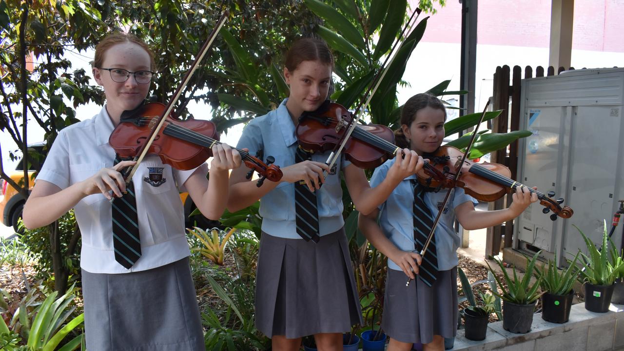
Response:
[[[422,247],[424,247],[427,241],[427,236],[431,232],[433,225],[433,217],[431,216],[431,210],[425,203],[425,187],[418,184],[417,180],[412,179],[412,186],[414,187],[414,241],[416,241],[415,249],[420,253]],[[427,251],[422,257],[422,264],[418,268],[418,277],[431,287],[431,285],[437,279],[437,252],[436,252],[436,236],[433,235],[431,242],[427,247]]]

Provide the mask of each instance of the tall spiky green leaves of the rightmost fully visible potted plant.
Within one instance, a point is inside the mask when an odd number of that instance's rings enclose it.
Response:
[[[583,282],[593,285],[611,285],[615,282],[618,275],[624,270],[624,262],[622,258],[615,253],[615,247],[609,245],[607,234],[607,221],[603,222],[602,249],[598,250],[596,245],[590,240],[576,225],[574,227],[582,235],[587,246],[589,255],[583,254],[580,250],[578,253],[583,258],[584,268],[580,271],[580,277]]]

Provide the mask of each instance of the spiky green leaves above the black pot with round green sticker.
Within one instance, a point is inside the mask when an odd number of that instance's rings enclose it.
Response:
[[[535,267],[535,278],[540,282],[542,291],[553,295],[567,295],[572,292],[572,285],[578,277],[577,266],[578,254],[571,262],[568,262],[567,269],[559,270],[555,261],[548,260],[548,267],[542,264]]]

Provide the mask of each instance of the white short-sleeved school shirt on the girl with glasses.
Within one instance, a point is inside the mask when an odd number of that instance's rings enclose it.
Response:
[[[61,189],[85,180],[104,167],[112,167],[115,151],[109,145],[114,126],[105,107],[92,119],[72,124],[59,132],[38,180]],[[203,164],[178,171],[158,156],[147,156],[132,177],[137,197],[141,257],[126,269],[115,260],[112,239],[112,205],[104,195],[82,198],[74,213],[82,234],[80,267],[91,273],[127,273],[170,264],[190,255],[184,227],[180,191],[193,172],[205,176]]]

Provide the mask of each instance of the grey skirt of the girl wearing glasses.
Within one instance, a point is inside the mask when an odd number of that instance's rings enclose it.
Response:
[[[126,274],[82,270],[89,351],[205,350],[188,257]]]

